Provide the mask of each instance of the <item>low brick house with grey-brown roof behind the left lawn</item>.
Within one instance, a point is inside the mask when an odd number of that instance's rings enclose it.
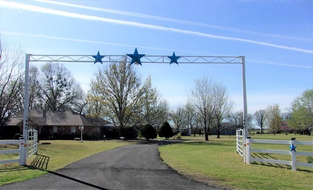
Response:
[[[5,138],[17,132],[22,134],[22,122],[22,114],[11,115],[5,123]],[[39,139],[73,139],[81,137],[80,126],[84,126],[84,139],[99,139],[106,134],[106,128],[112,129],[110,124],[104,119],[91,118],[70,110],[30,110],[28,112],[28,129],[38,130]]]

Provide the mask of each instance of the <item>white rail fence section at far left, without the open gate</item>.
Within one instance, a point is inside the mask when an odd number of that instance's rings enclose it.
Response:
[[[0,160],[0,164],[6,164],[6,163],[14,163],[19,162],[20,166],[22,165],[22,147],[24,146],[23,140],[0,140],[0,145],[3,144],[19,144],[19,149],[13,149],[13,150],[0,150],[0,154],[12,154],[12,153],[19,153],[19,158],[16,159],[8,159],[8,160]]]

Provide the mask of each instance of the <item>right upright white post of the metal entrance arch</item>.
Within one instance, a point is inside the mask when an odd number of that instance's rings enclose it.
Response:
[[[246,61],[245,56],[241,56],[242,63],[242,73],[243,73],[243,97],[244,97],[244,161],[247,163],[247,146],[246,146],[246,138],[248,137],[248,127],[247,127],[247,119],[248,119],[248,111],[247,111],[247,102],[246,102]]]

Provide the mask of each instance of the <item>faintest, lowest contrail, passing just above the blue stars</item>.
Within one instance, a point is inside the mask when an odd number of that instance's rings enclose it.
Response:
[[[125,46],[125,47],[139,47],[139,48],[146,48],[146,49],[155,49],[155,50],[165,50],[165,51],[175,51],[175,52],[183,52],[183,53],[190,53],[196,54],[200,56],[207,56],[204,54],[199,54],[197,52],[188,52],[188,51],[181,51],[181,50],[173,50],[173,49],[163,49],[163,48],[156,48],[156,47],[147,47],[147,46],[134,46],[122,43],[110,43],[110,42],[101,42],[101,41],[93,41],[93,40],[86,40],[86,39],[75,39],[75,38],[63,38],[63,37],[55,37],[55,36],[46,36],[46,35],[37,35],[37,34],[25,34],[19,32],[8,32],[2,31],[2,34],[6,35],[14,35],[14,36],[27,36],[27,37],[37,37],[37,38],[50,38],[50,39],[61,39],[61,40],[68,40],[68,41],[78,41],[78,42],[85,42],[85,43],[95,43],[95,44],[107,44],[107,45],[116,45],[116,46]],[[291,65],[291,64],[283,64],[283,63],[273,63],[273,62],[265,62],[265,61],[256,61],[251,59],[246,59],[247,62],[255,62],[255,63],[265,63],[270,65],[280,65],[280,66],[288,66],[288,67],[300,67],[300,68],[308,68],[313,69],[313,66],[305,66],[305,65]]]

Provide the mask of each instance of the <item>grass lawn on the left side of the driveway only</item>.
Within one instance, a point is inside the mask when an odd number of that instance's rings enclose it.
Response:
[[[38,144],[38,153],[49,157],[46,170],[56,171],[57,169],[64,168],[70,163],[88,157],[92,154],[102,152],[105,150],[113,149],[119,146],[126,145],[126,142],[117,140],[107,141],[69,141],[69,140],[54,140],[49,141],[51,144],[43,145],[41,142]],[[18,149],[18,145],[1,145],[0,150]],[[14,159],[18,158],[18,154],[0,154],[0,159]],[[35,155],[27,159],[27,165],[36,158]],[[19,166],[18,163],[1,164],[0,165],[0,185],[25,181],[45,174],[46,171],[33,170],[28,167]]]

